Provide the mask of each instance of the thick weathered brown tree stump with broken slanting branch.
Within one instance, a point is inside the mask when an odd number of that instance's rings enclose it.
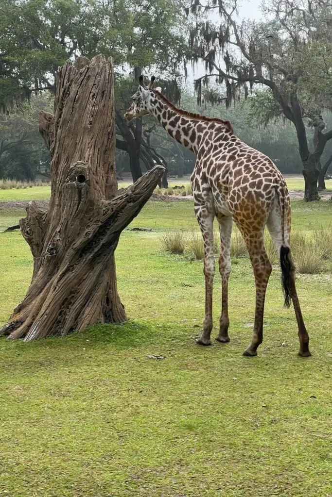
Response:
[[[30,202],[20,221],[34,258],[32,281],[0,334],[30,341],[126,320],[114,250],[164,169],[155,167],[116,196],[114,119],[111,59],[67,62],[58,75],[55,115],[39,115],[52,157],[49,209]]]

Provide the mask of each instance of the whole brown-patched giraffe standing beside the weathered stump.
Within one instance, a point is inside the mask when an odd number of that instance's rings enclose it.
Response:
[[[291,207],[285,180],[264,154],[243,143],[234,133],[229,121],[193,114],[178,109],[153,88],[143,76],[139,79],[132,104],[124,117],[132,119],[154,115],[167,133],[197,156],[190,182],[194,209],[204,242],[205,316],[203,331],[196,341],[211,345],[212,297],[215,275],[214,219],[219,223],[221,249],[221,317],[219,342],[228,342],[228,278],[230,274],[230,240],[232,223],[240,231],[249,252],[256,287],[255,319],[252,340],[245,356],[257,355],[263,341],[263,315],[267,283],[272,271],[264,248],[267,226],[280,256],[285,306],[293,301],[298,336],[299,355],[308,357],[309,335],[306,330],[295,287],[295,266],[290,251]]]

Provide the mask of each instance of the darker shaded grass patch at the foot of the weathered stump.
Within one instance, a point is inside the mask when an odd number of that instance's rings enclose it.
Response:
[[[165,330],[144,322],[123,325],[94,325],[66,337],[52,336],[26,343],[0,337],[0,375],[50,374],[61,369],[77,369],[116,357],[116,351],[160,344]],[[152,350],[153,352],[153,350]],[[151,352],[151,353],[152,353]]]

